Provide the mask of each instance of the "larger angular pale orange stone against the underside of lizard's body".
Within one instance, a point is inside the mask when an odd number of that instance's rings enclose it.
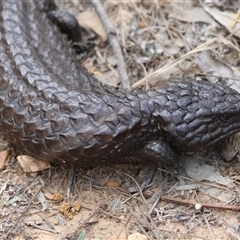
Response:
[[[23,171],[27,173],[35,173],[51,167],[49,163],[37,160],[28,155],[19,155],[17,160]]]

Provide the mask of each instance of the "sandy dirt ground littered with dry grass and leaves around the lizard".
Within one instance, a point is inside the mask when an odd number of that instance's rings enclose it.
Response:
[[[117,86],[114,51],[90,2],[58,5],[77,16],[84,41],[96,44],[81,56],[82,64]],[[132,88],[154,87],[170,78],[213,83],[220,78],[240,89],[235,81],[240,76],[240,1],[106,0],[103,6]],[[178,173],[159,168],[142,192],[149,166],[51,166],[30,174],[8,146],[0,153],[0,160],[11,153],[0,172],[0,239],[240,239],[238,149],[236,137],[216,152],[194,154],[190,161],[182,157]]]

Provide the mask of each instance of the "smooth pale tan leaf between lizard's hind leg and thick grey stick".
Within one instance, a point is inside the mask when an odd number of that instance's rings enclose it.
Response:
[[[96,12],[82,12],[77,16],[77,20],[81,27],[91,29],[101,38],[103,42],[107,41],[107,33]]]

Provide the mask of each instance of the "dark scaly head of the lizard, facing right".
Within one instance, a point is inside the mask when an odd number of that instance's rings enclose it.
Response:
[[[170,81],[157,91],[164,104],[156,101],[153,115],[173,144],[186,151],[215,145],[240,132],[240,94],[229,87]]]

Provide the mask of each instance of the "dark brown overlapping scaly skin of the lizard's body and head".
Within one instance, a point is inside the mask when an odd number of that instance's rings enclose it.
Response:
[[[240,129],[240,95],[169,82],[148,91],[103,86],[77,63],[41,1],[0,2],[0,132],[55,164],[177,161]],[[174,149],[174,150],[172,150]]]

